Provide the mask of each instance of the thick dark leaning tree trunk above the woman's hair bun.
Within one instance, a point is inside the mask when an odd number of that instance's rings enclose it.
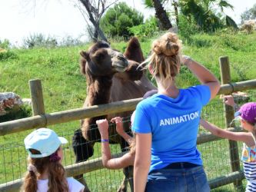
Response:
[[[168,30],[169,28],[172,28],[171,22],[167,13],[165,12],[165,9],[163,8],[163,5],[161,5],[161,2],[159,0],[152,1],[155,7],[155,15],[161,22],[162,29]]]

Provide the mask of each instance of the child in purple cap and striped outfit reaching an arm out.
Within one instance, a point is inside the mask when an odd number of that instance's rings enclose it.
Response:
[[[226,96],[224,103],[233,107],[236,106],[231,96]],[[201,119],[200,124],[218,137],[244,142],[241,161],[243,161],[244,165],[244,176],[248,181],[245,191],[256,191],[256,102],[243,104],[241,108],[235,112],[234,117],[240,119],[241,127],[248,132],[223,130],[203,119]]]

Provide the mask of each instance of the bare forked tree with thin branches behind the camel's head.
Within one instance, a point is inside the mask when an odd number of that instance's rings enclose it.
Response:
[[[81,6],[77,5],[81,14],[84,15],[85,21],[87,15],[89,21],[94,26],[94,31],[91,31],[91,34],[93,33],[93,40],[98,40],[98,35],[101,37],[102,40],[108,41],[105,37],[103,31],[101,31],[100,28],[100,21],[102,15],[105,13],[105,11],[113,4],[118,2],[118,0],[78,0],[78,2],[81,3],[81,5],[84,6],[85,9],[81,8]],[[86,10],[86,11],[85,11]]]

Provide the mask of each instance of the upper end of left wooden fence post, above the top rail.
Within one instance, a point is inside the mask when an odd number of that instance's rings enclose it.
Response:
[[[33,116],[45,114],[44,98],[42,95],[42,84],[39,79],[29,80],[30,95],[32,98]]]

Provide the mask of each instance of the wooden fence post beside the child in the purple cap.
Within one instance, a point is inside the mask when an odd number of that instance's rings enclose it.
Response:
[[[221,67],[221,84],[231,84],[231,71],[228,61],[228,57],[219,58],[220,67]],[[224,104],[224,118],[225,118],[225,127],[234,127],[234,123],[231,124],[234,119],[234,109]],[[238,142],[237,141],[228,141],[229,142],[229,154],[231,158],[231,170],[235,172],[240,170],[240,158],[238,154]],[[241,189],[242,183],[241,180],[234,182],[234,187]]]

